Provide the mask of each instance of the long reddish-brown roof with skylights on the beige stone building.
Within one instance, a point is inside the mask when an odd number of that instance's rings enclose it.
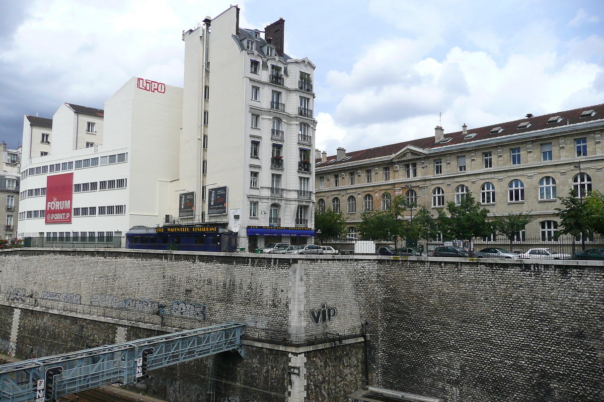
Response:
[[[582,113],[586,111],[592,111],[582,117]],[[553,119],[557,118],[557,119]],[[550,121],[551,119],[551,121]],[[434,143],[434,135],[419,139],[414,139],[405,142],[398,142],[390,145],[376,146],[374,148],[361,149],[359,151],[346,152],[345,159],[334,161],[329,163],[330,160],[335,159],[336,155],[330,155],[327,157],[327,162],[319,163],[321,158],[315,159],[317,168],[323,168],[325,166],[338,165],[339,163],[350,163],[357,162],[359,160],[374,159],[379,157],[387,157],[396,154],[396,152],[405,148],[407,145],[414,145],[419,148],[434,149],[445,145],[458,145],[468,142],[492,139],[496,137],[510,136],[512,134],[523,134],[530,131],[544,130],[547,128],[561,127],[567,124],[577,124],[581,122],[588,122],[604,119],[604,104],[586,106],[576,108],[572,110],[558,111],[556,113],[550,113],[548,115],[533,116],[532,118],[523,118],[514,121],[487,125],[478,128],[467,129],[466,134],[462,131],[455,131],[454,133],[446,133],[445,138],[451,138],[448,142]],[[549,121],[549,122],[548,122]],[[522,123],[530,123],[525,127],[520,127]],[[499,128],[495,130],[495,128]],[[468,137],[470,134],[475,134],[472,137]]]

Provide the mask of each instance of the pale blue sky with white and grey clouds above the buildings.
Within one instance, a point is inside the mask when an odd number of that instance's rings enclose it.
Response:
[[[232,1],[232,0],[231,0]],[[0,140],[63,102],[103,108],[127,80],[182,86],[182,31],[221,0],[0,0]],[[316,146],[335,154],[604,103],[601,0],[240,0],[283,17],[315,65]]]

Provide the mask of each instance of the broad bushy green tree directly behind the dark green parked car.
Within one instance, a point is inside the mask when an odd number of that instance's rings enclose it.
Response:
[[[439,230],[447,240],[470,240],[474,237],[487,237],[493,233],[490,222],[487,222],[489,210],[480,207],[471,193],[461,199],[460,205],[452,201],[447,203],[450,216],[439,210]]]

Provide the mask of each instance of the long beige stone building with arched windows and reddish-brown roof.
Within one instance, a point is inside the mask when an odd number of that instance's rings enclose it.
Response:
[[[472,195],[490,216],[529,213],[519,233],[551,240],[561,207],[558,196],[604,190],[604,104],[468,128],[317,159],[317,209],[344,212],[350,237],[361,213],[387,209],[405,195],[436,216],[449,201]],[[405,217],[406,219],[409,216]]]

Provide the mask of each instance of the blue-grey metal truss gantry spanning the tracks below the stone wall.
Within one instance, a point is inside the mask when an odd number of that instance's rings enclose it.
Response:
[[[0,402],[53,401],[101,385],[132,384],[147,370],[238,350],[244,332],[245,324],[231,322],[1,365]]]

